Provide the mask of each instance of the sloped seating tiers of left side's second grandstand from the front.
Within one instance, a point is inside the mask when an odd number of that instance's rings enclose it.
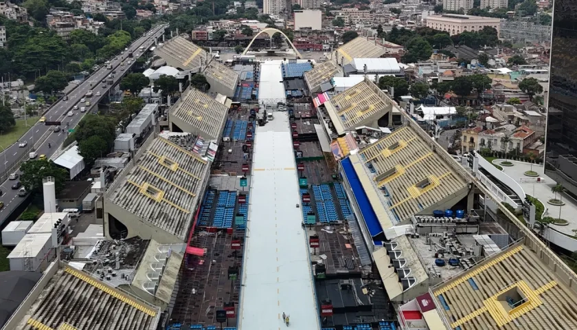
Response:
[[[209,169],[195,153],[156,137],[109,198],[184,240]]]

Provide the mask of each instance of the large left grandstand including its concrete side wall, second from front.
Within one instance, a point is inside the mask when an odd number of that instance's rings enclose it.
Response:
[[[120,223],[121,228],[126,227],[124,237],[182,243],[192,225],[210,164],[163,137],[149,140],[137,153],[136,164],[125,168],[106,192],[106,234],[111,235]]]

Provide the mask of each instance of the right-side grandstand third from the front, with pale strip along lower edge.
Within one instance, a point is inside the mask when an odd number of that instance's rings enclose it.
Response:
[[[337,134],[370,124],[392,110],[391,99],[366,78],[324,105]]]

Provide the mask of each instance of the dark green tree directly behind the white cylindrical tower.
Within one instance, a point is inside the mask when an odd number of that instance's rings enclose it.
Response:
[[[41,192],[42,179],[54,177],[54,187],[56,193],[58,193],[64,189],[64,183],[68,175],[67,170],[56,166],[54,162],[47,159],[24,162],[20,166],[20,170],[22,171],[20,181],[29,192]]]

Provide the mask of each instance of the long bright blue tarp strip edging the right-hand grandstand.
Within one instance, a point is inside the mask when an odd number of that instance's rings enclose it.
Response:
[[[367,228],[369,228],[371,236],[374,237],[381,234],[381,232],[383,232],[381,223],[378,223],[378,219],[376,218],[376,214],[371,206],[369,197],[367,197],[367,193],[363,189],[363,186],[361,186],[361,181],[359,180],[357,172],[355,172],[352,167],[352,162],[348,157],[346,157],[341,161],[341,165],[343,166],[343,170],[345,170],[345,175],[350,184],[350,188],[352,188],[354,198],[357,199],[357,204],[361,209],[361,214],[363,214],[363,218],[365,219],[365,223],[367,224]]]

